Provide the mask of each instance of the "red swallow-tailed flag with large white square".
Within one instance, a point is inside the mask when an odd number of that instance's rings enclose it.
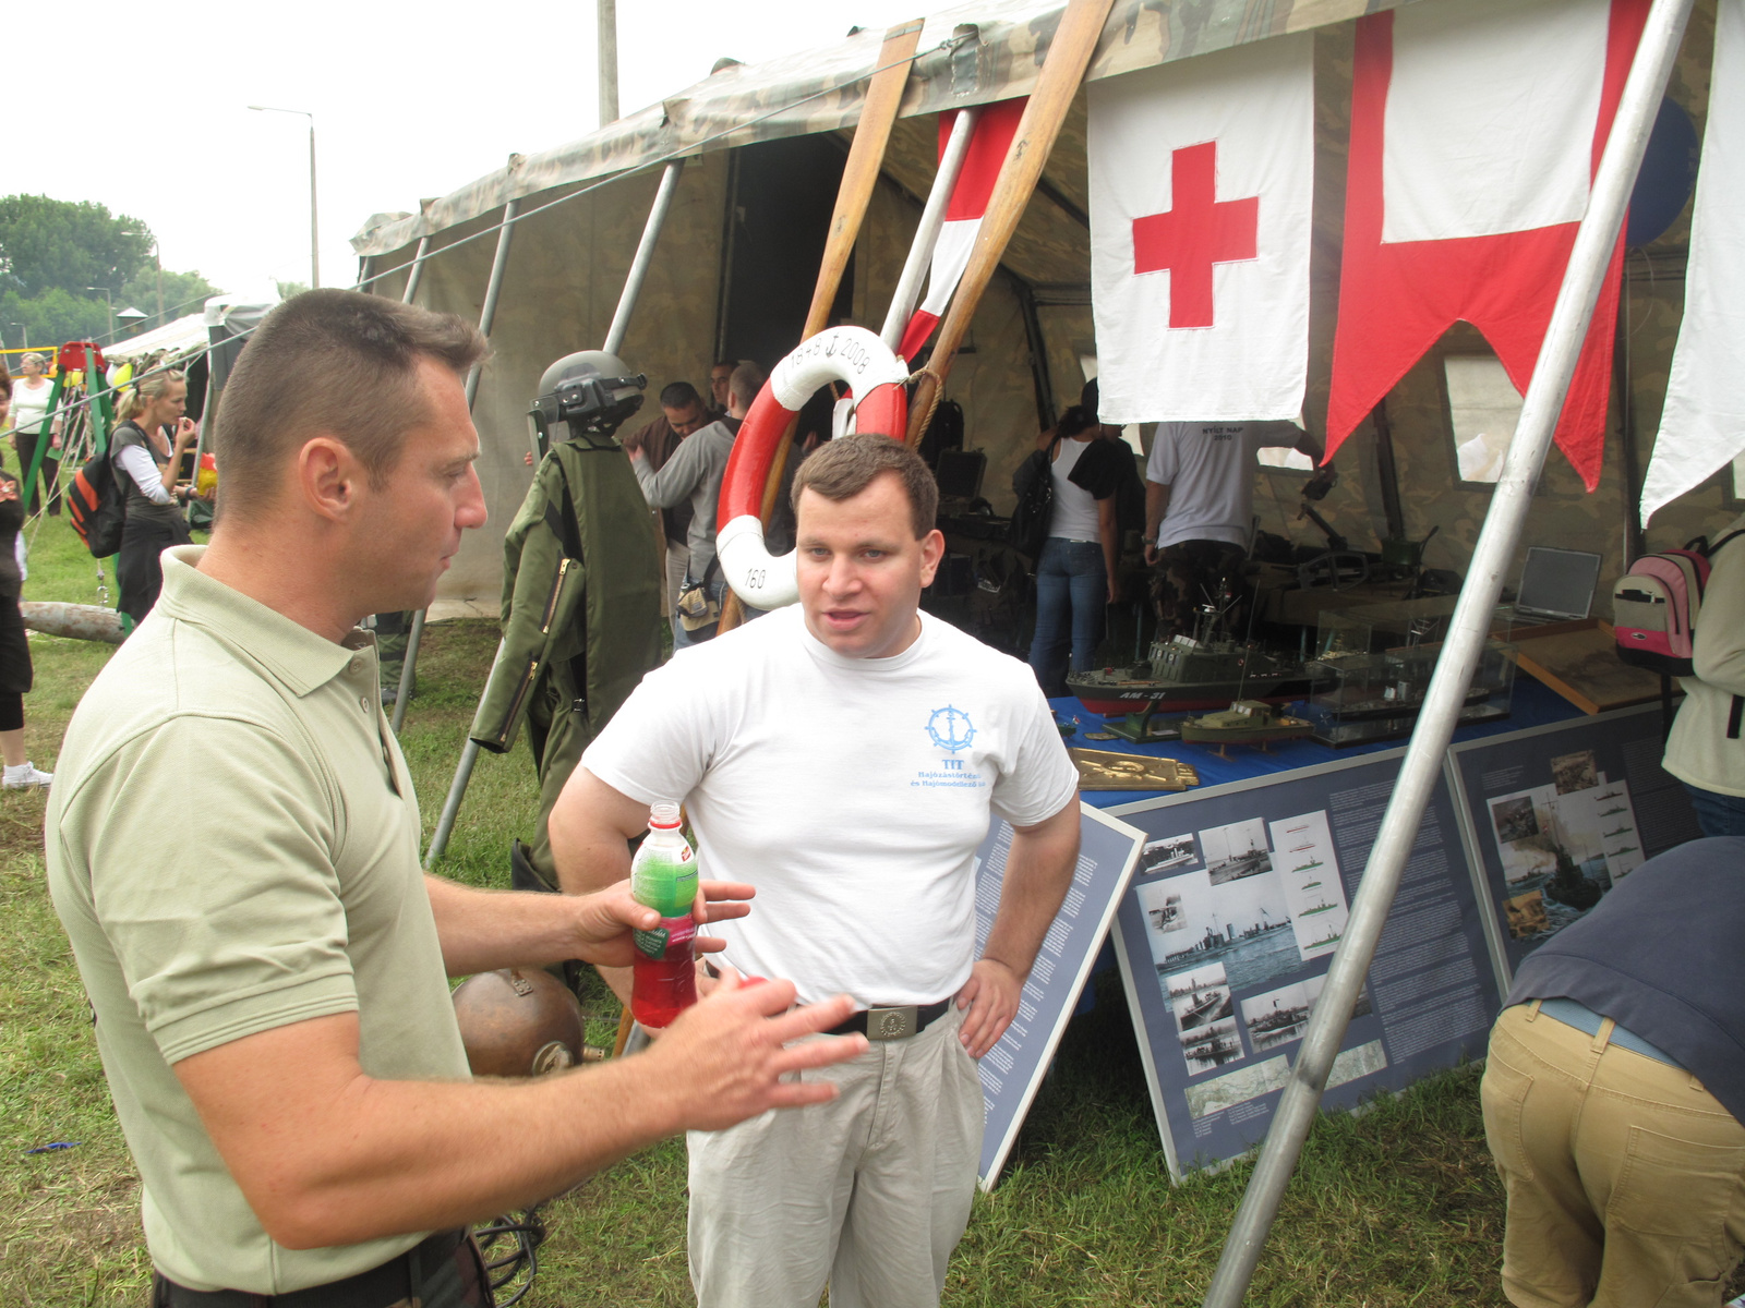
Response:
[[[1330,457],[1461,319],[1527,392],[1647,3],[1454,0],[1359,19]],[[1485,103],[1450,103],[1475,87]],[[1557,427],[1588,490],[1621,267],[1623,235]]]

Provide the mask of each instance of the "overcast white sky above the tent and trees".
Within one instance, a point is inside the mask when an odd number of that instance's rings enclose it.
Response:
[[[756,63],[944,3],[619,0],[619,108],[630,113],[701,80],[724,54]],[[309,281],[309,120],[248,105],[316,115],[328,286],[356,277],[349,237],[372,213],[417,209],[513,152],[599,126],[588,0],[183,0],[150,16],[98,0],[80,12],[92,19],[82,30],[103,33],[105,63],[73,73],[51,61],[59,72],[44,73],[44,87],[52,94],[28,98],[40,145],[5,155],[0,194],[98,201],[141,218],[166,269],[197,269],[227,291]],[[24,35],[7,26],[9,38]],[[92,106],[108,141],[101,162],[75,127],[75,105]]]

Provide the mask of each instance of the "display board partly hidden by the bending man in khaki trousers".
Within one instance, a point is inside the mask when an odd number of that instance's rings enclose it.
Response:
[[[1659,705],[1455,745],[1448,781],[1504,989],[1534,949],[1581,921],[1646,860],[1701,832],[1659,766]]]

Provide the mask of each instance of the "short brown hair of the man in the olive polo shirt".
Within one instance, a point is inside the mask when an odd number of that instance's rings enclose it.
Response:
[[[305,291],[255,328],[218,403],[220,513],[258,514],[304,441],[337,436],[380,485],[428,415],[419,363],[455,377],[487,354],[464,317],[361,291]]]

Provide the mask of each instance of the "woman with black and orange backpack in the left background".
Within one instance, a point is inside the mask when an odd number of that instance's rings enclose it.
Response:
[[[164,588],[162,553],[192,541],[178,504],[187,490],[176,490],[181,455],[197,434],[194,422],[181,417],[187,399],[188,384],[181,373],[161,371],[141,378],[115,412],[120,426],[110,443],[110,459],[127,502],[127,525],[115,556],[115,581],[120,582],[115,607],[134,623],[145,621]],[[174,441],[166,429],[174,433]]]

